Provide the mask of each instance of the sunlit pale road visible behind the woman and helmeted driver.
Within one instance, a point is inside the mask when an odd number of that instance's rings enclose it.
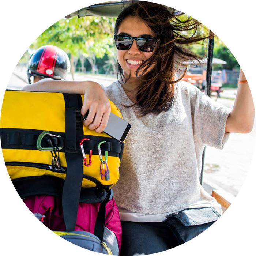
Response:
[[[12,75],[7,89],[20,90],[26,85],[26,70],[16,68]],[[68,75],[67,80],[72,80]],[[75,75],[75,80],[94,80],[104,86],[110,84],[115,78],[105,78],[104,76]],[[223,105],[232,108],[236,90],[224,89],[221,98],[217,101]],[[256,138],[256,125],[251,133],[230,135],[229,141],[223,150],[217,150],[212,147],[206,148],[204,165],[204,182],[215,188],[225,189],[227,192],[237,195],[248,173],[252,162],[253,150]]]

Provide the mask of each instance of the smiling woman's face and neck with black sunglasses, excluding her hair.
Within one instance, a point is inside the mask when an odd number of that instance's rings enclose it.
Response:
[[[131,99],[132,102],[136,102],[136,88],[138,87],[137,75],[145,74],[143,69],[140,69],[141,71],[139,71],[138,68],[144,61],[148,60],[153,55],[155,44],[159,39],[155,37],[156,34],[146,25],[146,23],[142,22],[142,20],[136,16],[128,16],[122,20],[119,27],[117,22],[116,30],[115,41],[117,46],[118,65],[122,69],[121,75],[127,80],[126,83],[123,84],[123,89],[129,96],[129,99]],[[131,36],[137,37],[138,39],[132,39]],[[126,44],[128,44],[129,47],[120,47],[120,42],[123,44],[123,41],[126,41]],[[150,41],[151,45],[144,48],[144,45],[146,43],[148,44],[147,41]],[[150,50],[148,50],[148,48],[150,48]],[[149,69],[147,69],[147,72],[148,71]]]

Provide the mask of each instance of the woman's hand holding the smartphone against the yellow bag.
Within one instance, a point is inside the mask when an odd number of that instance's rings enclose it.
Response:
[[[86,81],[84,89],[84,101],[81,114],[84,116],[89,110],[86,120],[83,121],[85,126],[95,132],[103,132],[111,112],[109,100],[102,87],[95,82]]]

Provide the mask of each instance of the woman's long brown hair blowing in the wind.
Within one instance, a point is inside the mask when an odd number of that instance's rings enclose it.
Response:
[[[201,59],[186,46],[206,39],[208,35],[196,33],[201,24],[197,20],[190,17],[181,20],[174,15],[174,10],[144,1],[131,1],[131,4],[123,9],[116,20],[115,34],[121,22],[128,16],[136,16],[146,23],[157,34],[160,42],[157,43],[153,55],[136,71],[140,81],[136,89],[136,102],[131,106],[124,106],[138,107],[141,116],[149,113],[159,114],[172,107],[175,101],[174,84],[184,77],[186,62]],[[193,33],[188,35],[183,31],[193,31]],[[118,62],[117,71],[118,79],[125,83],[129,78],[124,78],[123,69]],[[177,71],[182,71],[182,75],[175,80]]]

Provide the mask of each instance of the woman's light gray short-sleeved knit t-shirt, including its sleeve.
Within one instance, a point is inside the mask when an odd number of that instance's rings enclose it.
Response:
[[[200,185],[205,145],[223,148],[231,109],[213,101],[190,83],[176,84],[173,107],[139,117],[121,84],[104,88],[131,125],[125,141],[120,179],[113,187],[119,207],[139,214],[161,214],[216,203]]]

